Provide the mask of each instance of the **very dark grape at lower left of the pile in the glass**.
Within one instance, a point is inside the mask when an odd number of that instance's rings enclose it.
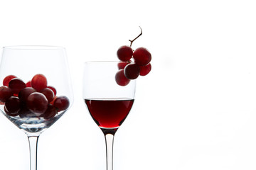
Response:
[[[16,96],[11,96],[5,102],[5,108],[8,113],[16,114],[21,110],[21,101]]]

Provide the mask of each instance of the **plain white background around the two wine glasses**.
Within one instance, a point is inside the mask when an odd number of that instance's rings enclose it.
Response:
[[[82,100],[82,62],[146,47],[152,70],[114,139],[114,170],[256,169],[256,3],[0,1],[0,47],[66,47],[75,101],[43,132],[38,170],[105,169],[105,141]],[[54,72],[54,71],[53,71]],[[29,169],[26,135],[0,115],[0,169]]]

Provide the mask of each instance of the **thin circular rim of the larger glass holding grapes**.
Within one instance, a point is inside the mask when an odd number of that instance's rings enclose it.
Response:
[[[65,47],[52,45],[10,45],[4,46],[3,49],[9,50],[65,50]]]

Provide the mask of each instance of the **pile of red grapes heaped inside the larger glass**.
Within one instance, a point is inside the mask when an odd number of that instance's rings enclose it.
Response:
[[[4,78],[3,86],[0,87],[0,102],[7,115],[50,119],[70,105],[66,96],[56,94],[56,89],[47,85],[43,74],[36,74],[27,83],[9,75]]]

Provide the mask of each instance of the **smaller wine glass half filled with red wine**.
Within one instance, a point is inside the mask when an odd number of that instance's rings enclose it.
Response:
[[[113,140],[134,103],[135,81],[119,86],[115,80],[120,62],[86,62],[83,98],[92,119],[105,135],[107,170],[113,169]]]

